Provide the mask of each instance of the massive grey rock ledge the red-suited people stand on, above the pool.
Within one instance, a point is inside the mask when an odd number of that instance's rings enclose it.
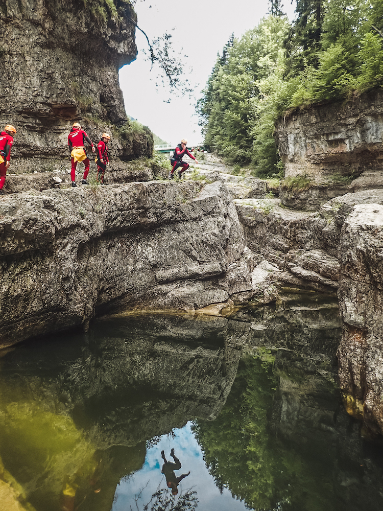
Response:
[[[219,181],[11,194],[0,232],[3,345],[116,305],[195,310],[252,290],[254,263]]]

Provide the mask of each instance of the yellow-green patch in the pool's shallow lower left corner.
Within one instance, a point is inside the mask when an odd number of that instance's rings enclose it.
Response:
[[[4,405],[0,438],[6,482],[12,481],[20,500],[32,504],[42,498],[46,504],[57,505],[68,481],[86,484],[97,467],[94,446],[73,420],[36,402]]]

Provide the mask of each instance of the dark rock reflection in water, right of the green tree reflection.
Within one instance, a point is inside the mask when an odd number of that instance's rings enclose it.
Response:
[[[383,451],[361,438],[360,424],[344,410],[337,367],[279,351],[274,373],[279,384],[271,410],[273,436],[307,466],[326,468],[329,511],[380,511]]]

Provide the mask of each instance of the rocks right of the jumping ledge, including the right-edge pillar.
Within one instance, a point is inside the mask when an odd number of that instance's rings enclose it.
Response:
[[[275,208],[266,216],[237,205],[246,244],[273,263],[274,283],[339,288],[340,385],[349,413],[373,434],[383,432],[382,207],[380,189],[334,198],[312,214]]]

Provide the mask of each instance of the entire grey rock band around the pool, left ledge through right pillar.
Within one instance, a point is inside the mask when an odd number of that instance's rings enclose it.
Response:
[[[382,431],[383,190],[346,194],[310,214],[276,203],[266,210],[270,199],[234,204],[222,180],[3,197],[2,345],[86,328],[95,314],[108,310],[222,316],[233,303],[280,300],[285,287],[333,296],[339,287],[345,324],[338,352],[341,386],[350,411],[364,414],[371,431]]]

